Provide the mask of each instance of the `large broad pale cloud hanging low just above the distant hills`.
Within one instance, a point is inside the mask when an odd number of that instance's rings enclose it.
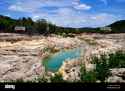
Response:
[[[84,12],[77,12],[70,8],[60,8],[56,14],[33,14],[33,19],[44,18],[52,23],[65,27],[98,27],[108,25],[118,17],[108,13],[90,14]]]

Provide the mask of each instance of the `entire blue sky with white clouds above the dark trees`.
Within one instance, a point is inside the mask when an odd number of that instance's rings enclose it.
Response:
[[[101,27],[125,19],[125,0],[0,0],[0,14],[65,27]]]

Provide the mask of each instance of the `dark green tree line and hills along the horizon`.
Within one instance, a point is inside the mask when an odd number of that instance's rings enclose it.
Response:
[[[79,34],[79,33],[120,33],[125,32],[125,20],[121,20],[115,22],[109,27],[112,28],[112,31],[104,31],[100,28],[70,28],[70,27],[61,27],[51,22],[48,22],[45,19],[39,19],[37,21],[33,21],[30,17],[12,19],[7,16],[0,15],[0,32],[9,32],[14,33],[15,26],[25,26],[30,34],[38,33],[38,34],[61,34],[67,35],[71,33]]]

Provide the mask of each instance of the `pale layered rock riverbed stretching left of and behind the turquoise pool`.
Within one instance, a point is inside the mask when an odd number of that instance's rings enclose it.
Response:
[[[44,49],[50,48],[56,52],[61,49],[74,48],[81,44],[86,48],[82,57],[84,56],[83,61],[88,65],[91,54],[124,50],[125,34],[81,34],[74,38],[63,38],[55,35],[45,37],[1,33],[0,81],[33,80],[38,75],[42,76],[45,73],[45,68],[41,64],[41,60],[49,55],[49,52],[45,52]],[[79,69],[75,66],[75,69],[77,68]],[[71,70],[70,67],[69,70]],[[68,79],[67,75],[64,75],[64,78]]]

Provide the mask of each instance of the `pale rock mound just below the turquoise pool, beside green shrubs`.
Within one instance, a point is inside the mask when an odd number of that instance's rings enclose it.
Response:
[[[58,72],[63,76],[63,79],[66,81],[70,82],[79,81],[80,64],[81,61],[78,61],[78,59],[64,61]]]

